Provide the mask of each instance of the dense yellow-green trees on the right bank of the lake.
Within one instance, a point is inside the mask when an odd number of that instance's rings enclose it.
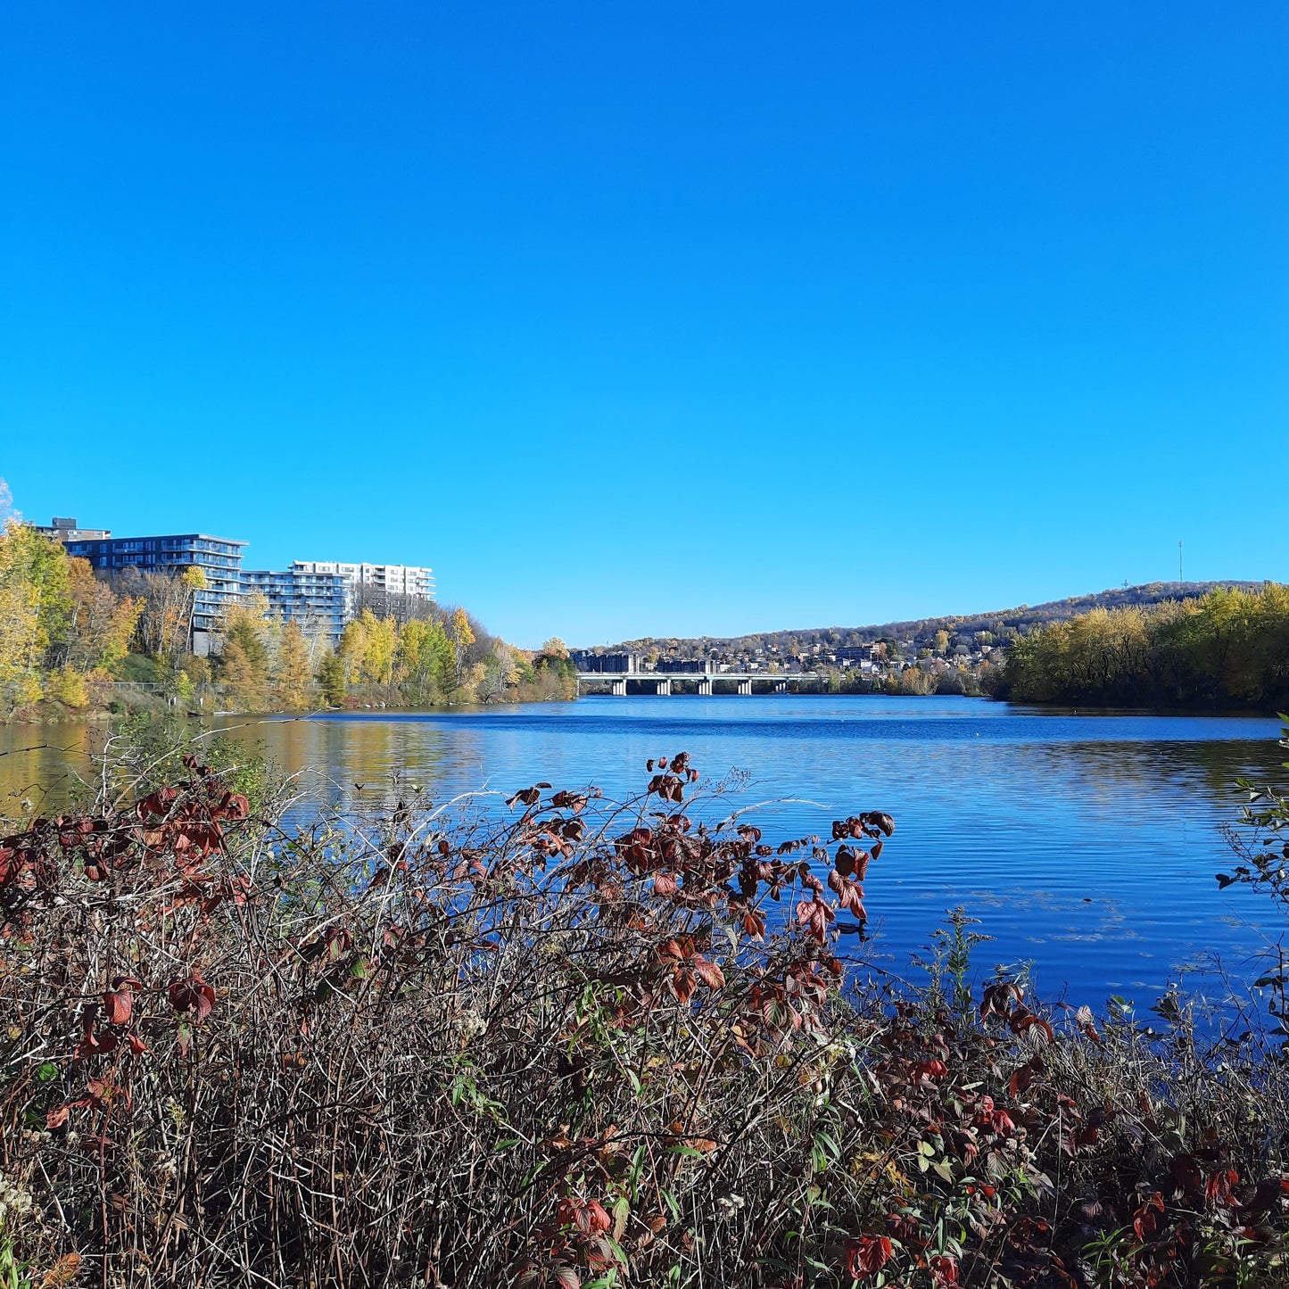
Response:
[[[1106,706],[1289,704],[1289,588],[1093,608],[1018,635],[1000,696]]]

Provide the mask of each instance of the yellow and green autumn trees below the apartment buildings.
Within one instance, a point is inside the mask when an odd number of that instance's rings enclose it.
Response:
[[[180,709],[311,712],[539,703],[576,695],[552,639],[528,651],[491,635],[464,608],[419,602],[370,608],[335,643],[249,597],[226,615],[220,648],[189,650],[200,568],[111,583],[62,544],[10,519],[0,532],[0,721]],[[406,597],[405,597],[406,598]]]

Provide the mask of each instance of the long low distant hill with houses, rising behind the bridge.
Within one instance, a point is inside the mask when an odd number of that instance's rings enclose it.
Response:
[[[1152,581],[1142,586],[1114,586],[1089,596],[1070,596],[1044,605],[1020,605],[1016,608],[996,608],[980,614],[949,614],[942,617],[918,617],[898,623],[875,623],[869,626],[804,626],[794,630],[759,632],[750,635],[646,637],[623,641],[606,652],[629,650],[644,652],[656,648],[674,657],[719,654],[742,654],[755,650],[802,654],[813,644],[821,648],[870,644],[874,641],[898,641],[922,644],[935,638],[936,632],[953,637],[974,637],[987,632],[995,639],[1025,634],[1045,623],[1063,621],[1089,608],[1123,608],[1129,605],[1158,605],[1165,599],[1194,599],[1207,596],[1219,586],[1240,586],[1245,590],[1263,585],[1261,581]]]

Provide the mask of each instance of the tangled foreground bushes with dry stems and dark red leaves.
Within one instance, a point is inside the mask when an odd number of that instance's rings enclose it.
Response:
[[[887,815],[771,847],[648,771],[286,835],[189,757],[0,842],[0,1276],[1281,1283],[1254,1036],[976,1000],[960,920],[874,985],[839,933]]]

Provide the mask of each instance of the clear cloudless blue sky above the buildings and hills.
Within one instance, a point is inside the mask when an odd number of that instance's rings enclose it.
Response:
[[[1289,8],[10,5],[22,512],[521,644],[1289,580]]]

